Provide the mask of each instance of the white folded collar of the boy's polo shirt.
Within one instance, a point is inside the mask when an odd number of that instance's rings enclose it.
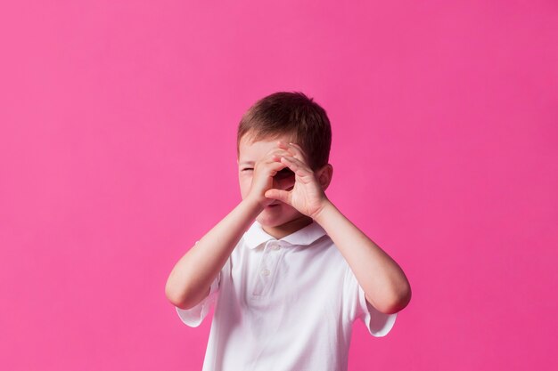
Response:
[[[254,249],[269,240],[283,241],[283,245],[285,246],[308,246],[316,241],[316,239],[321,238],[325,234],[325,230],[322,228],[322,226],[313,220],[306,227],[291,233],[289,236],[276,239],[273,236],[267,234],[267,232],[263,230],[261,224],[258,221],[254,221],[250,228],[246,230],[246,232],[244,232],[243,237],[246,246],[250,247],[250,249]]]

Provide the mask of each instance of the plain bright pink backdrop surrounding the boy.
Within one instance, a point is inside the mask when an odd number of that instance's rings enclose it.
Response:
[[[164,285],[240,201],[242,113],[294,90],[413,288],[349,368],[555,369],[556,3],[273,3],[0,5],[2,368],[201,369]]]

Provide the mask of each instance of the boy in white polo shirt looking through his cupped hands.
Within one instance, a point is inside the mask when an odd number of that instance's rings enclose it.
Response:
[[[410,301],[398,264],[324,194],[331,141],[324,109],[303,93],[273,93],[242,117],[242,201],[165,288],[191,327],[217,301],[203,371],[346,370],[353,321],[387,335]]]

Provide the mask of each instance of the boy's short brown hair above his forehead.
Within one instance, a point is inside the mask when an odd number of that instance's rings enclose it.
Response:
[[[236,135],[237,157],[245,134],[252,142],[291,134],[293,142],[304,149],[312,170],[329,161],[332,146],[330,120],[322,107],[300,92],[272,93],[244,113]]]

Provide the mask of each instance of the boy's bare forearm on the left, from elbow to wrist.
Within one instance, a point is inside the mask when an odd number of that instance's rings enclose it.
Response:
[[[191,308],[209,294],[209,286],[223,268],[234,246],[261,212],[261,206],[246,198],[234,207],[178,262],[168,276],[165,293],[170,302]]]

